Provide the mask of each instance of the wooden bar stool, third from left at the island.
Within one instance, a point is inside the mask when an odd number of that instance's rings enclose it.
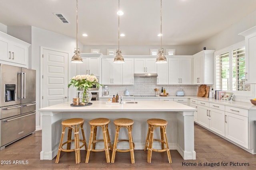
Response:
[[[134,123],[134,121],[132,119],[126,119],[126,118],[121,118],[121,119],[114,120],[114,124],[116,125],[116,135],[115,135],[115,141],[114,141],[114,144],[113,144],[113,152],[112,152],[111,163],[115,162],[116,151],[118,151],[118,152],[130,152],[131,162],[132,162],[132,164],[135,163],[135,160],[134,160],[134,147],[135,147],[135,145],[132,141],[132,125],[133,125],[133,123]],[[126,127],[128,129],[129,140],[124,140],[123,139],[123,140],[118,141],[119,130],[120,130],[121,127]],[[116,149],[117,148],[117,143],[121,142],[121,141],[129,142],[130,149],[127,149],[127,150]]]

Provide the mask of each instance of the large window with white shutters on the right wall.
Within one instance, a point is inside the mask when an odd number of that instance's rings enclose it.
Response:
[[[244,41],[214,53],[216,90],[241,96],[250,96],[253,93],[251,85],[245,84],[245,53]]]

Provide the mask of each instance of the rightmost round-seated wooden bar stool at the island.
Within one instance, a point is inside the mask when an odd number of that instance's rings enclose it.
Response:
[[[167,136],[166,136],[166,125],[167,121],[163,119],[148,119],[148,134],[146,138],[145,151],[148,149],[148,163],[151,163],[152,151],[155,152],[167,152],[169,163],[172,163],[172,158],[170,154],[170,149],[168,146]],[[154,129],[160,127],[161,139],[154,139]],[[159,141],[162,143],[162,149],[153,149],[153,141]],[[164,148],[164,144],[166,148]]]

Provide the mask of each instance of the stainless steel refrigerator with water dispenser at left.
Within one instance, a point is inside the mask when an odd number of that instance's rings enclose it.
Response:
[[[36,130],[36,70],[0,64],[0,150]]]

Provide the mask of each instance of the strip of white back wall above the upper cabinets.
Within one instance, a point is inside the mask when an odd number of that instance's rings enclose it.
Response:
[[[176,55],[194,55],[196,54],[196,45],[169,45],[162,46],[164,54],[166,49],[176,49]],[[117,49],[118,45],[84,45],[83,53],[90,53],[90,49],[100,49],[100,53],[107,55],[107,49]],[[159,49],[160,45],[121,45],[122,55],[150,55],[150,49]]]

